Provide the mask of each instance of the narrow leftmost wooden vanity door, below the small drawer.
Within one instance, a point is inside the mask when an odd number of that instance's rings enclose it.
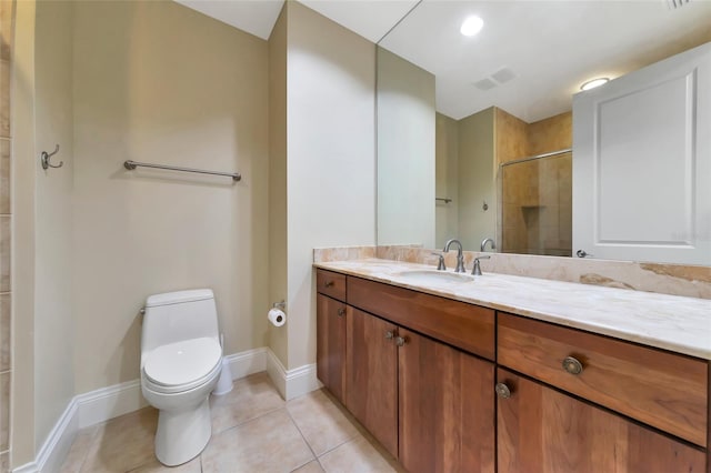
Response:
[[[346,304],[317,294],[316,372],[341,402],[346,392]]]

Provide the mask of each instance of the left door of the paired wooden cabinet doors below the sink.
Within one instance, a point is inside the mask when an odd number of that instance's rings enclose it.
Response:
[[[398,456],[398,351],[395,326],[348,306],[346,406]]]

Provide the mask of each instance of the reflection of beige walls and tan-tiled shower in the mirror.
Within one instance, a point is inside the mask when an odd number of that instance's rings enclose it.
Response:
[[[571,254],[572,159],[558,153],[572,145],[571,112],[533,123],[495,107],[438,113],[435,135],[435,195],[451,198],[435,201],[435,248],[457,236],[477,251],[492,238],[485,251]]]

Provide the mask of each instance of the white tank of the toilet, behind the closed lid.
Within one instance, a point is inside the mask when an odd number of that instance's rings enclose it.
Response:
[[[168,292],[146,300],[141,354],[160,345],[201,336],[220,340],[211,290]]]

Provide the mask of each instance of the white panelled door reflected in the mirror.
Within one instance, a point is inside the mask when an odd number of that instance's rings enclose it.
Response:
[[[573,98],[575,253],[711,264],[711,43]]]

